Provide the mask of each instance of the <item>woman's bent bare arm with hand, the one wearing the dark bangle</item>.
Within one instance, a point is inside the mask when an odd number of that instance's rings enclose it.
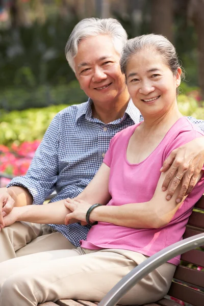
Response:
[[[200,172],[197,181],[202,173],[203,171]],[[176,203],[175,199],[179,193],[179,188],[177,188],[172,198],[167,200],[167,191],[162,191],[164,176],[165,174],[162,173],[155,194],[150,201],[128,203],[121,206],[100,206],[91,212],[90,221],[108,222],[133,228],[159,228],[165,226],[171,221],[186,197],[180,203]],[[68,200],[65,205],[72,211],[72,214],[66,216],[66,223],[69,223],[72,216],[86,221],[86,212],[92,203],[82,200]]]

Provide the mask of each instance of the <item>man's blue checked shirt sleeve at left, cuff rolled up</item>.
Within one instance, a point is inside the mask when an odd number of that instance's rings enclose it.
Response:
[[[58,113],[48,126],[27,174],[14,177],[7,186],[27,188],[33,196],[33,204],[42,204],[46,196],[55,190],[59,172],[60,130],[60,114]]]

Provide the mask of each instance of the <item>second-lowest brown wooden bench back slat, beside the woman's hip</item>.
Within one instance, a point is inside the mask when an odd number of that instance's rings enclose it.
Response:
[[[204,286],[204,272],[195,269],[190,269],[188,267],[177,267],[173,278],[179,279],[183,282],[187,282],[194,286]]]

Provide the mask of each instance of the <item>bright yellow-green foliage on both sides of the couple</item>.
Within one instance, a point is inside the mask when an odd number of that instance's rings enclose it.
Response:
[[[181,94],[178,98],[178,104],[184,116],[204,120],[204,108],[197,107],[195,98]],[[50,121],[67,106],[56,105],[10,113],[3,111],[0,117],[1,144],[11,146],[13,143],[19,145],[24,141],[41,140]]]

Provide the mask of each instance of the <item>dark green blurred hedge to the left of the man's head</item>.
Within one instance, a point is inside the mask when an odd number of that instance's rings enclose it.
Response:
[[[64,49],[78,22],[56,16],[44,24],[0,29],[0,88],[67,84],[74,80]]]

